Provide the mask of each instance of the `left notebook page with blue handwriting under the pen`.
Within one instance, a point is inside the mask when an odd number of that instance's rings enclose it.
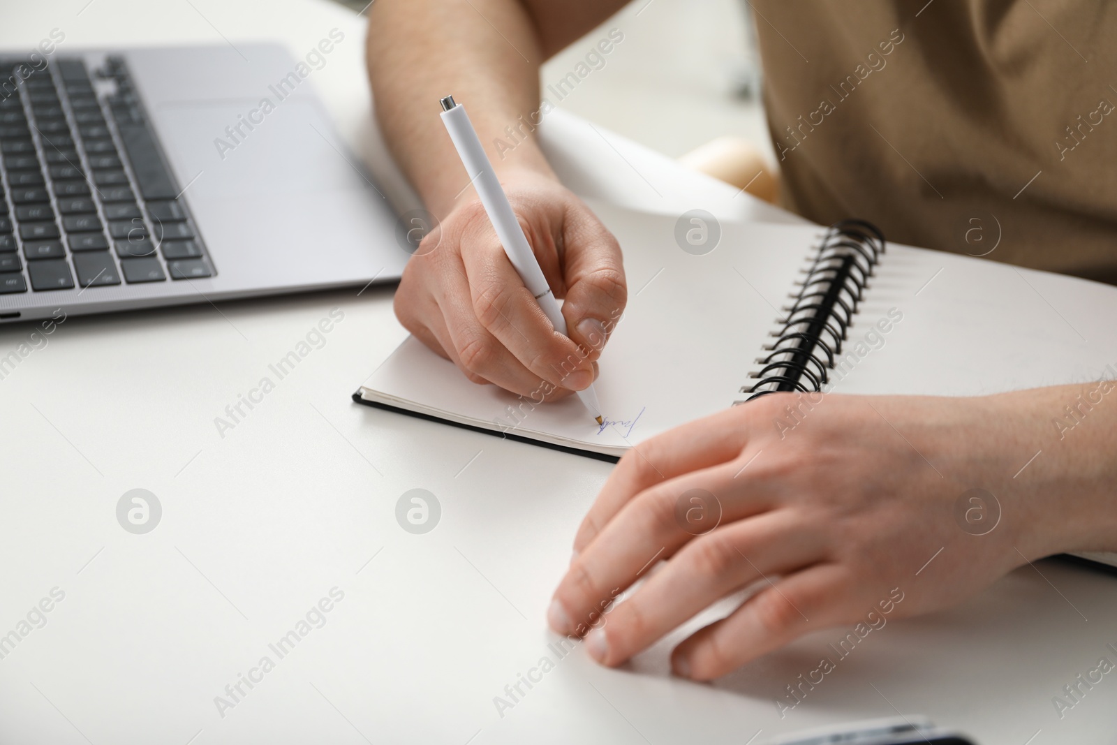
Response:
[[[676,219],[607,204],[594,211],[624,252],[629,303],[600,360],[605,426],[575,397],[536,404],[408,338],[365,382],[362,398],[497,432],[619,456],[672,427],[744,398],[798,270],[822,230],[723,223],[717,247],[684,251]],[[537,400],[537,397],[536,397]]]

